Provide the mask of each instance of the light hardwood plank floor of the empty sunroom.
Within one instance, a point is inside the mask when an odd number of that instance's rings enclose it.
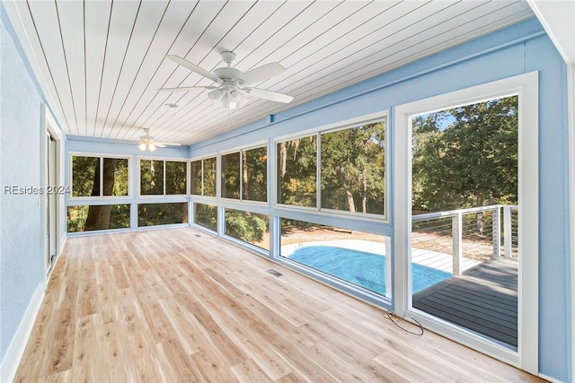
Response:
[[[188,228],[68,239],[15,379],[456,380],[537,379]]]

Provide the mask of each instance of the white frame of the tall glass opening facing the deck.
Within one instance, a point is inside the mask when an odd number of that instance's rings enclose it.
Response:
[[[411,116],[483,100],[518,97],[518,332],[517,353],[462,327],[411,307]],[[394,310],[416,318],[431,331],[506,361],[538,372],[539,251],[539,116],[538,73],[520,74],[398,106],[394,110]]]

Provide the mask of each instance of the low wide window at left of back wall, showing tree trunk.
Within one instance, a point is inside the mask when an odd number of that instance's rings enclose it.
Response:
[[[129,205],[68,206],[67,232],[129,228]]]

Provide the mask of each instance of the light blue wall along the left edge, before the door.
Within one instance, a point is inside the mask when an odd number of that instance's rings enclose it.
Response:
[[[42,185],[42,99],[4,19],[0,25],[0,361],[38,286],[44,283],[39,195],[11,196],[4,186]]]

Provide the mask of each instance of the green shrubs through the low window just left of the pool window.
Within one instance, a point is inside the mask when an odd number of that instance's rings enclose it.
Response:
[[[226,235],[244,242],[260,241],[268,231],[268,223],[263,217],[261,214],[226,210]]]

